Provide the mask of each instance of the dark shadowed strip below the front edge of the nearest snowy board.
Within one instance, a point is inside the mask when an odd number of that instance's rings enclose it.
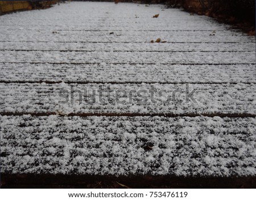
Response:
[[[1,188],[256,188],[256,177],[95,176],[1,173]]]

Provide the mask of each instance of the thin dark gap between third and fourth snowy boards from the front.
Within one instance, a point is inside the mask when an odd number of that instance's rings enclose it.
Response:
[[[139,63],[105,62],[108,65],[255,65],[255,63]],[[52,64],[52,65],[100,65],[101,62],[0,62],[0,64]]]

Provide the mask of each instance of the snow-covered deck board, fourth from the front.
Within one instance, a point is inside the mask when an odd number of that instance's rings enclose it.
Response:
[[[232,59],[230,59],[232,57]],[[0,62],[6,63],[152,63],[221,64],[255,63],[254,52],[16,52],[0,51]]]

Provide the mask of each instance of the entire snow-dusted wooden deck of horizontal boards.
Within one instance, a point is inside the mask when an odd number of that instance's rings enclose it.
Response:
[[[0,16],[0,70],[1,173],[256,175],[255,37],[228,25],[63,3]],[[102,86],[148,101],[84,100]],[[183,101],[166,102],[175,91]]]

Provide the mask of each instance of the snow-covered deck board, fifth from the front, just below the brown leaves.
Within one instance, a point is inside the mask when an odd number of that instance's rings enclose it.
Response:
[[[72,34],[72,32],[70,32]],[[85,32],[86,34],[86,32]],[[190,33],[187,33],[188,35]],[[8,50],[55,50],[55,51],[254,51],[254,42],[85,42],[85,41],[1,41],[0,49]]]

